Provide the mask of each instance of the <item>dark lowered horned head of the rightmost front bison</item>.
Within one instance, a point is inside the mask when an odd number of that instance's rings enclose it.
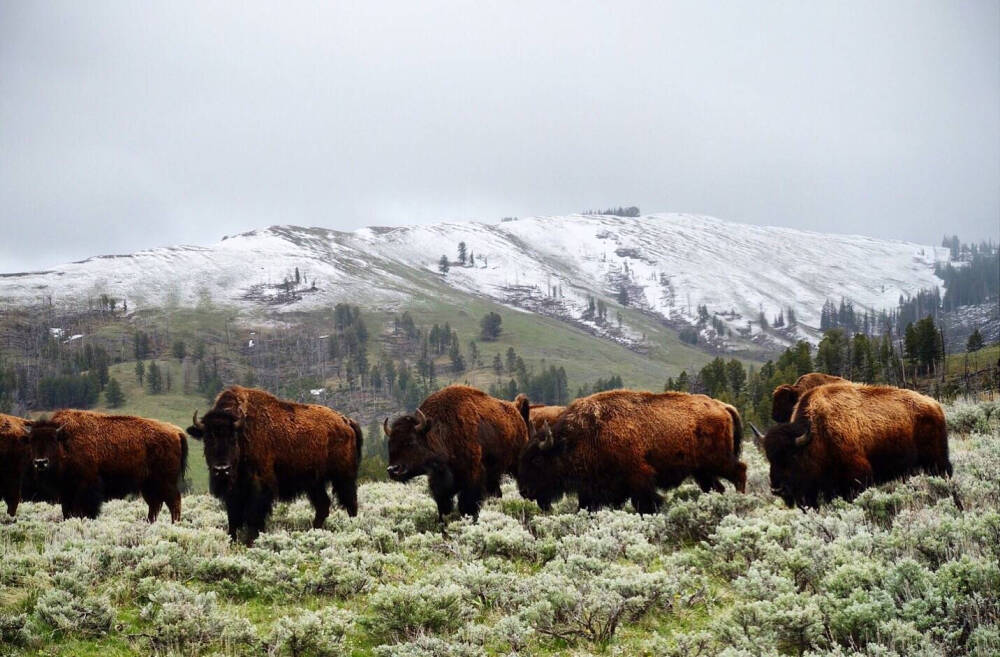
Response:
[[[813,503],[818,477],[815,455],[810,454],[812,442],[810,422],[801,417],[795,422],[777,424],[762,435],[753,424],[754,442],[771,466],[771,492],[788,506]]]

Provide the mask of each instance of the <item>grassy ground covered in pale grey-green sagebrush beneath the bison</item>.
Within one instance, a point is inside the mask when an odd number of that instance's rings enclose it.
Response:
[[[25,504],[0,522],[0,654],[997,654],[1000,409],[948,416],[952,480],[820,511],[773,498],[749,445],[746,495],[688,484],[648,516],[542,513],[508,483],[442,531],[418,479],[320,530],[281,504],[246,548],[201,494],[177,525]]]

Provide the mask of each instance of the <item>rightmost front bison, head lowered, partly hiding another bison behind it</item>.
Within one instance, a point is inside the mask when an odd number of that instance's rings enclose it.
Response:
[[[917,470],[951,475],[941,406],[912,390],[852,383],[806,391],[791,422],[755,442],[771,465],[771,490],[788,506],[852,499]]]

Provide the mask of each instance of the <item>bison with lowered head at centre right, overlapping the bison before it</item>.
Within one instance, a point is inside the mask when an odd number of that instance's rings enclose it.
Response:
[[[743,428],[728,404],[683,392],[601,392],[574,401],[532,438],[521,455],[518,487],[543,509],[567,492],[580,507],[659,508],[657,488],[692,476],[702,490],[722,490],[718,477],[746,488],[739,460]]]

